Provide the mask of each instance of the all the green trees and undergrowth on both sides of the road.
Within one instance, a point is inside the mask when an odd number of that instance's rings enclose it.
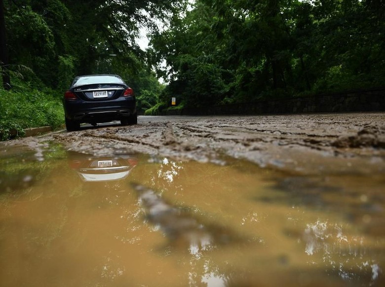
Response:
[[[139,114],[148,115],[385,83],[379,0],[0,5],[1,139],[10,130],[62,125],[61,95],[77,75],[120,75],[135,91]],[[138,45],[141,28],[150,38],[146,51]]]

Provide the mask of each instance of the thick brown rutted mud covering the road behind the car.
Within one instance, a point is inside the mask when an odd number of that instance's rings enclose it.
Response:
[[[299,174],[383,173],[385,113],[146,117],[138,125],[84,128],[8,144],[47,141],[95,156],[144,153],[224,162],[224,156]]]

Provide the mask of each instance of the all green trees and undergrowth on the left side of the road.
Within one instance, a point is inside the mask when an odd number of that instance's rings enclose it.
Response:
[[[10,64],[1,73],[10,75],[12,92],[0,92],[2,139],[11,131],[61,125],[61,97],[77,75],[119,74],[134,89],[139,112],[155,105],[163,87],[136,44],[139,29],[157,31],[159,21],[179,14],[186,2],[4,1]]]

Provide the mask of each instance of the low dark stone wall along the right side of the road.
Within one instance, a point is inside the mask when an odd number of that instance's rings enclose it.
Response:
[[[261,100],[254,103],[216,105],[168,111],[167,115],[256,115],[318,112],[385,111],[385,88],[307,97]]]

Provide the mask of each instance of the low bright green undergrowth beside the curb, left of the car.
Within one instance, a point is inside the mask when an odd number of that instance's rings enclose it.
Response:
[[[1,140],[21,136],[25,128],[57,128],[64,124],[63,106],[53,91],[41,92],[27,88],[19,90],[16,92],[0,89]]]

